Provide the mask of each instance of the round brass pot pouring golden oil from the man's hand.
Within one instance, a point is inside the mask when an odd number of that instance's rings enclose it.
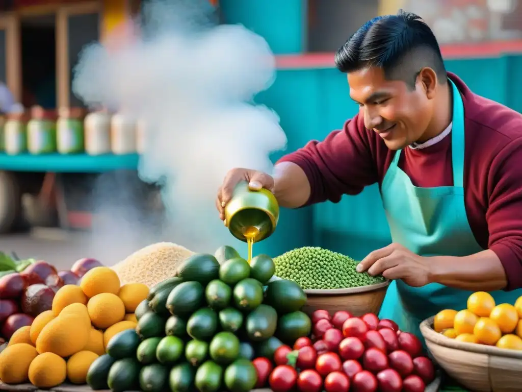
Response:
[[[246,242],[245,233],[256,228],[254,242],[268,238],[279,220],[279,204],[272,192],[266,189],[253,191],[242,181],[234,189],[232,199],[225,207],[225,221],[235,238]]]

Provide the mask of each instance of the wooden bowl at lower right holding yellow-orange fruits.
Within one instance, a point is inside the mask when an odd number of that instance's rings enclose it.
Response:
[[[420,330],[433,359],[457,382],[479,392],[522,390],[522,352],[464,343],[435,332],[433,319]]]

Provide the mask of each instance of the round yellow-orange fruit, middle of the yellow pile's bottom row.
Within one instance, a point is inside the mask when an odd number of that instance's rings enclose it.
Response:
[[[67,377],[65,360],[52,352],[40,354],[29,366],[29,381],[38,388],[53,388]]]

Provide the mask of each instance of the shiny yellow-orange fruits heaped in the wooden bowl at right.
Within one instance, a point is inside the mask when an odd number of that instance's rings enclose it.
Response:
[[[514,304],[495,304],[491,294],[478,291],[469,296],[466,309],[437,313],[433,328],[461,342],[522,350],[522,296]]]

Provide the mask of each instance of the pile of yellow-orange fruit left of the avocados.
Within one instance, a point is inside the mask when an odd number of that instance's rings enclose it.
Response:
[[[94,264],[78,261],[73,269],[82,275],[80,285],[66,284],[53,292],[48,309],[40,312],[38,307],[40,313],[32,324],[14,333],[0,353],[3,383],[29,381],[38,388],[52,388],[68,379],[85,384],[89,366],[105,353],[111,339],[121,331],[135,331],[134,312],[148,296],[148,287],[141,283],[121,285],[112,269],[90,269]],[[54,276],[52,279],[54,282]]]

